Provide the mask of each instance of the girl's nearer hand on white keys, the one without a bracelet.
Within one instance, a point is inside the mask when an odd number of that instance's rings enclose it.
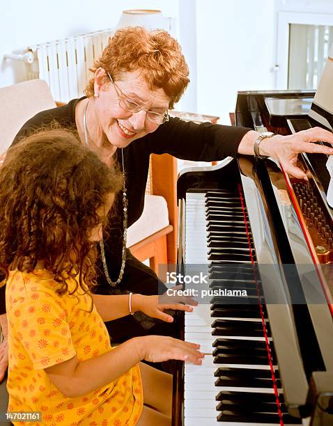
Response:
[[[150,363],[177,359],[200,365],[203,356],[205,356],[198,350],[200,345],[184,342],[169,336],[143,336],[132,340],[141,360],[149,361]]]

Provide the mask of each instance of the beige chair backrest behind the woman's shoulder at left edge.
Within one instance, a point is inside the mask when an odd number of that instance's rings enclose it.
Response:
[[[29,80],[0,88],[0,154],[7,150],[22,125],[36,113],[56,107],[44,80]]]

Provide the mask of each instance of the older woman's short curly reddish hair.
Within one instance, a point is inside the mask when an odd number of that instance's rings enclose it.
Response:
[[[162,88],[171,98],[170,109],[189,84],[189,69],[180,45],[163,30],[148,31],[140,26],[118,29],[90,70],[98,68],[109,72],[115,81],[121,72],[139,70],[151,90]],[[88,97],[93,96],[93,85],[94,77],[84,91]]]

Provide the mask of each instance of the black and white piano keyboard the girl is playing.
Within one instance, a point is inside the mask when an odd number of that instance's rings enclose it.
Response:
[[[186,194],[185,273],[186,265],[206,265],[210,289],[246,289],[248,297],[213,297],[185,313],[185,340],[206,354],[202,365],[185,364],[185,426],[302,424],[284,404],[245,209],[237,192]],[[240,281],[232,265],[243,268]]]

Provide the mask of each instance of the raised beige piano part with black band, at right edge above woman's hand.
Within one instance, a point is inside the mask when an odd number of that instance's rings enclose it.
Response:
[[[333,129],[333,45],[328,54],[309,116],[328,129]]]

